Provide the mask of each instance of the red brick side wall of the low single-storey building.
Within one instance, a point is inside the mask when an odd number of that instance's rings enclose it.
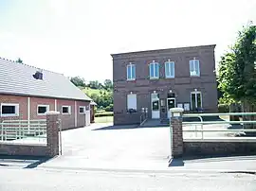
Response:
[[[1,103],[19,104],[19,116],[14,117],[0,117],[0,121],[9,119],[24,119],[27,120],[27,96],[7,96],[0,95]],[[37,114],[38,105],[49,105],[49,110],[55,110],[55,99],[44,97],[30,97],[30,119],[46,119],[46,115]],[[83,127],[85,125],[85,114],[79,113],[80,106],[88,106],[87,101],[77,101],[77,126],[75,127],[75,100],[57,99],[57,111],[60,112],[62,120],[62,129],[73,129]],[[62,106],[71,106],[70,114],[62,113]],[[1,108],[0,108],[1,109]]]

